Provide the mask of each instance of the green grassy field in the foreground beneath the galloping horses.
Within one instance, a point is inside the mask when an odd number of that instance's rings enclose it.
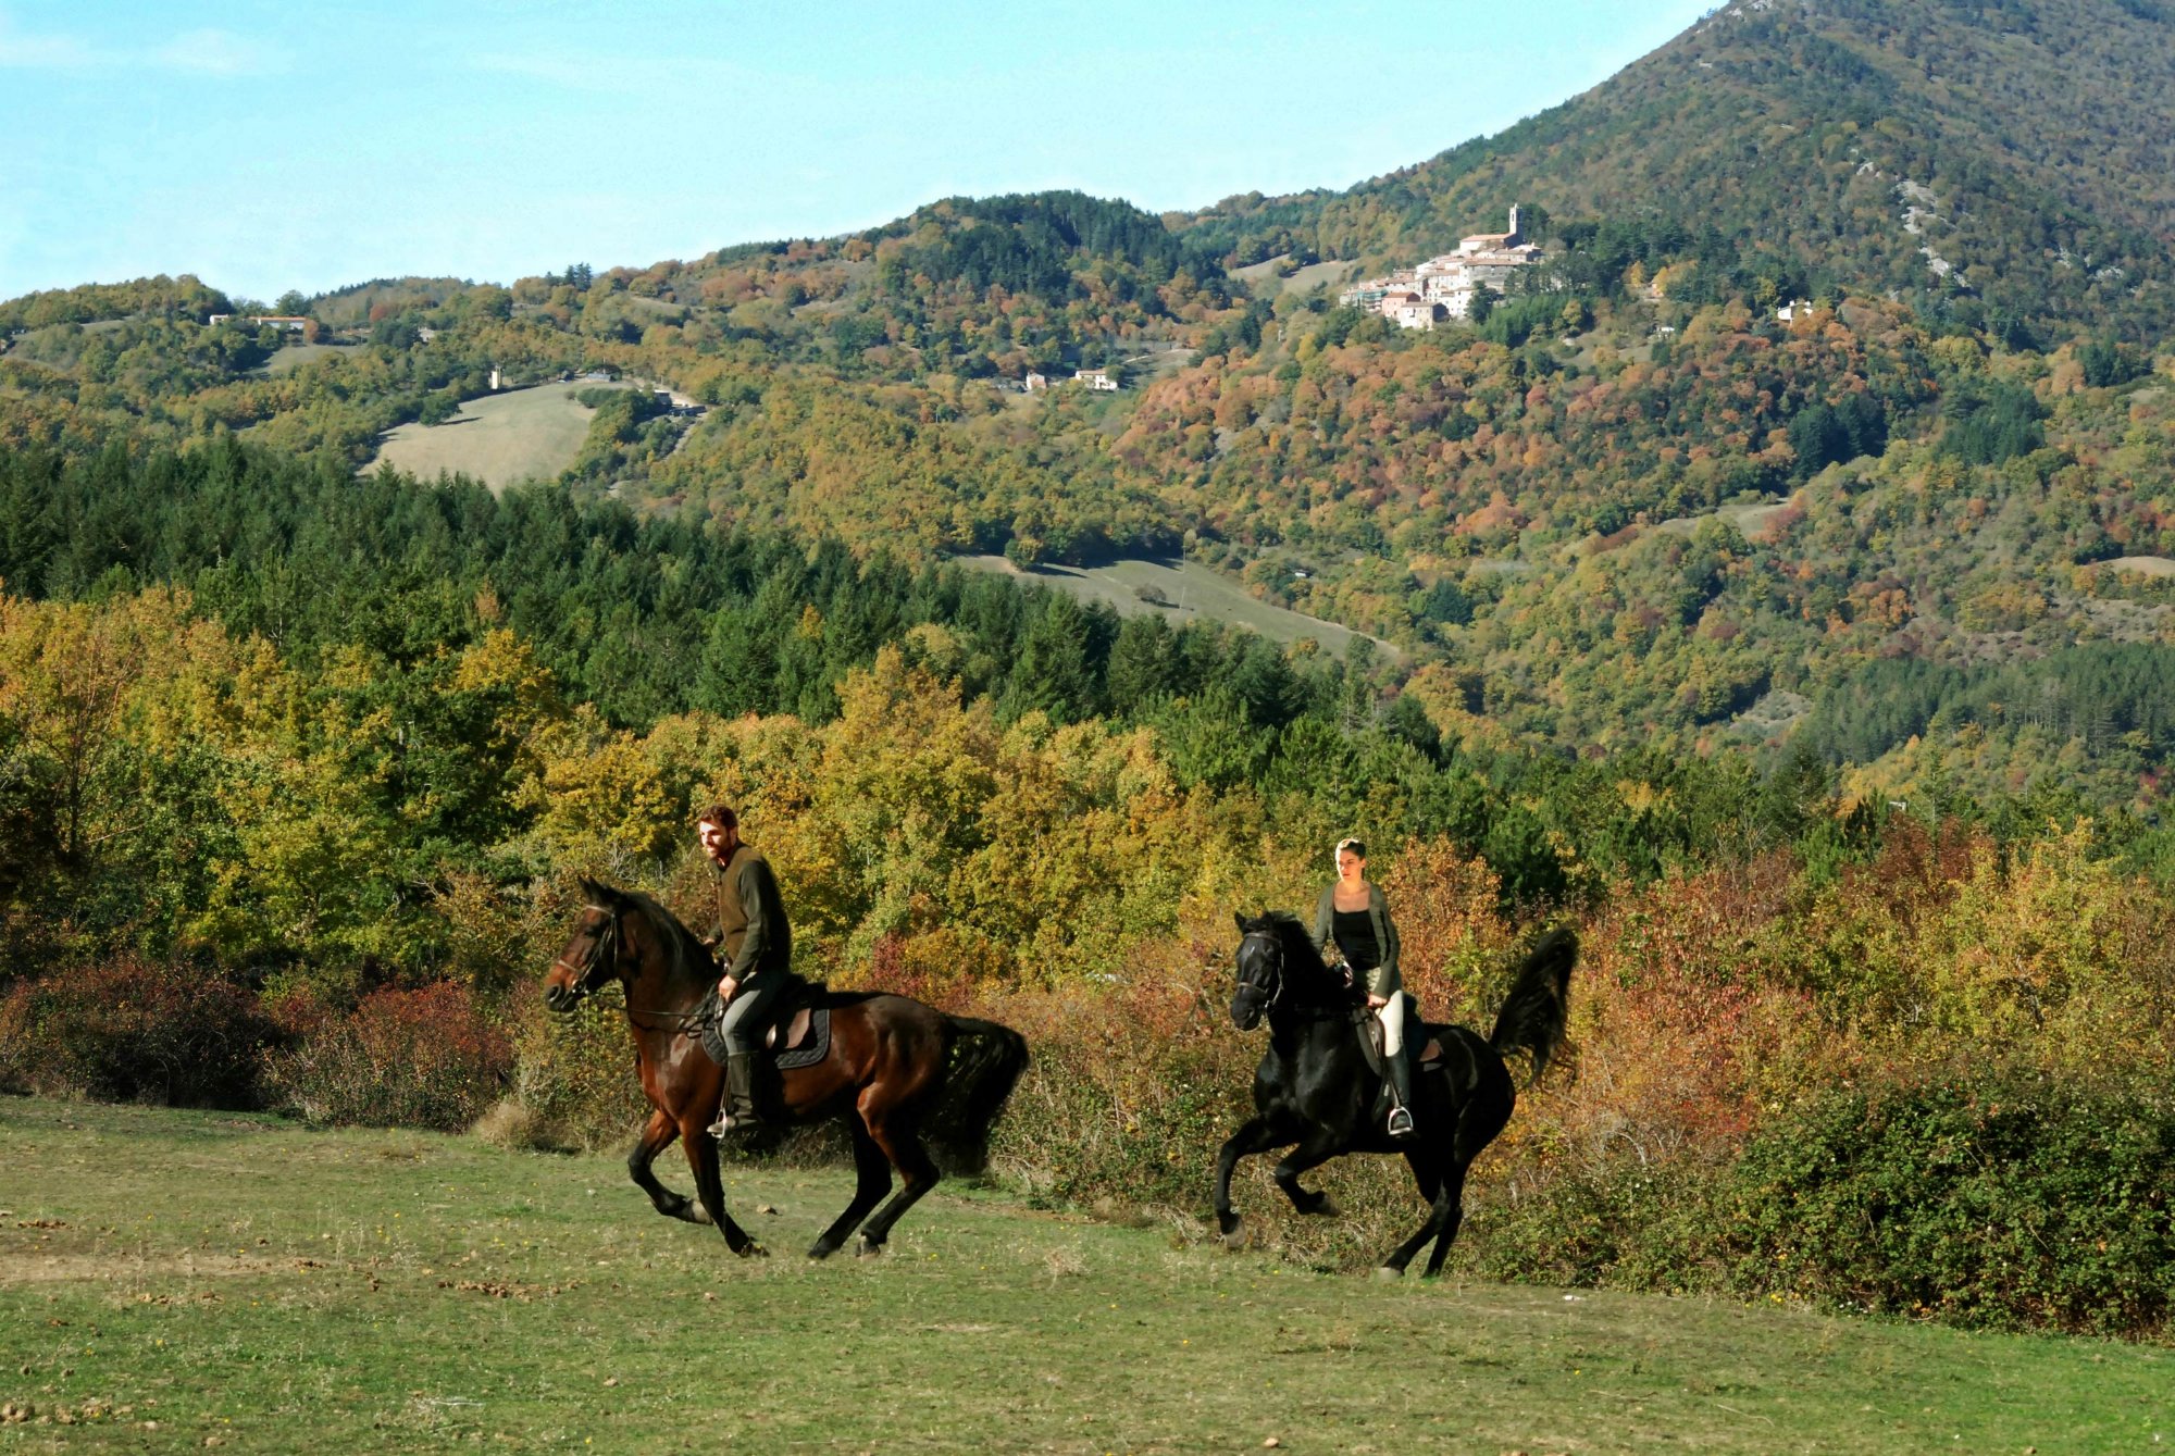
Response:
[[[742,1263],[655,1217],[618,1156],[0,1100],[0,1452],[1886,1456],[2175,1436],[2168,1350],[1377,1284],[1227,1254],[1190,1219],[1101,1226],[955,1184],[887,1256],[811,1265],[796,1250],[846,1187],[729,1169],[774,1250]]]

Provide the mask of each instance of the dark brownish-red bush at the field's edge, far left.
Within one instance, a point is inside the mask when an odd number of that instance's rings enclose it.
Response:
[[[50,1097],[257,1106],[257,997],[200,967],[124,958],[0,1002],[0,1087]]]

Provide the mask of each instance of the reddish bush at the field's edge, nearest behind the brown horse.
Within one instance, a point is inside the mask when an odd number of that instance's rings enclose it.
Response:
[[[468,987],[374,991],[346,1017],[315,1021],[274,1052],[265,1080],[281,1104],[315,1124],[468,1128],[513,1071],[513,1043]]]

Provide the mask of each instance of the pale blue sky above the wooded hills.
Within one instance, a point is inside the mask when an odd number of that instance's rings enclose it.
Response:
[[[1707,9],[0,0],[0,298],[161,272],[252,298],[507,283],[955,193],[1348,187]]]

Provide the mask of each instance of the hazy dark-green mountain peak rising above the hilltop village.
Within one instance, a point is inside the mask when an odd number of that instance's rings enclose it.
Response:
[[[1442,252],[1525,202],[1705,296],[1870,291],[2062,337],[2175,319],[2175,7],[1740,0],[1496,137],[1183,230],[1240,261]],[[1546,226],[1542,228],[1546,235]]]

